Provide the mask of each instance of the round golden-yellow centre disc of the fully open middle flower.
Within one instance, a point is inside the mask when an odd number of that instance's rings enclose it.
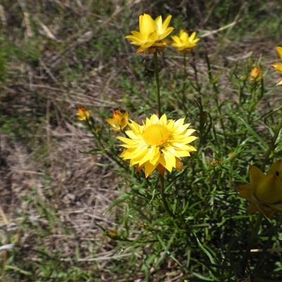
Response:
[[[168,140],[169,130],[161,124],[149,125],[142,133],[143,140],[147,145],[161,146]]]

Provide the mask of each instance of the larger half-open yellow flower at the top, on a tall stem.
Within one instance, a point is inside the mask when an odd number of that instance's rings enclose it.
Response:
[[[164,49],[166,38],[172,31],[173,27],[168,27],[171,21],[171,16],[169,15],[166,20],[163,20],[161,16],[153,20],[151,16],[147,13],[139,16],[139,30],[131,31],[133,35],[127,35],[125,38],[130,39],[130,44],[140,46],[136,53],[149,52],[149,54],[154,53],[157,49]]]

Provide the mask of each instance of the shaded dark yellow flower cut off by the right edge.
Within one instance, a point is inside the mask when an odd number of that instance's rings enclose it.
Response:
[[[282,212],[282,161],[276,161],[265,176],[257,166],[251,166],[250,185],[240,185],[239,197],[251,202],[248,212],[261,211],[266,217]]]

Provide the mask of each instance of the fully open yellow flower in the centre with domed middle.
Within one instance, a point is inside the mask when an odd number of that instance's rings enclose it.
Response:
[[[189,157],[195,147],[188,145],[197,137],[190,136],[195,130],[188,129],[190,124],[183,124],[184,118],[173,121],[167,120],[164,114],[158,118],[155,114],[146,118],[146,123],[139,125],[134,121],[128,123],[131,130],[125,131],[129,138],[117,137],[124,142],[123,159],[130,159],[130,166],[136,166],[135,172],[145,168],[146,178],[154,171],[159,170],[162,176],[164,171],[173,168],[182,170],[181,157]]]

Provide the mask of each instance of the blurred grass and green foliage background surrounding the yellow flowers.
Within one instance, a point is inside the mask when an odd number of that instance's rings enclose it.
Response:
[[[152,57],[125,39],[143,13],[201,37],[185,91],[182,56],[159,56],[163,111],[202,137],[181,178],[167,176],[183,226],[152,209],[141,173],[116,166],[104,122],[117,108],[135,121],[156,112]],[[253,219],[235,187],[277,121],[262,117],[281,104],[270,68],[281,14],[279,0],[0,0],[0,244],[16,244],[0,251],[2,281],[235,281]],[[264,85],[249,81],[254,66]],[[78,106],[92,109],[107,154],[81,153],[97,145]],[[279,222],[264,221],[257,249],[280,247]],[[260,254],[249,281],[281,281],[281,253]]]

